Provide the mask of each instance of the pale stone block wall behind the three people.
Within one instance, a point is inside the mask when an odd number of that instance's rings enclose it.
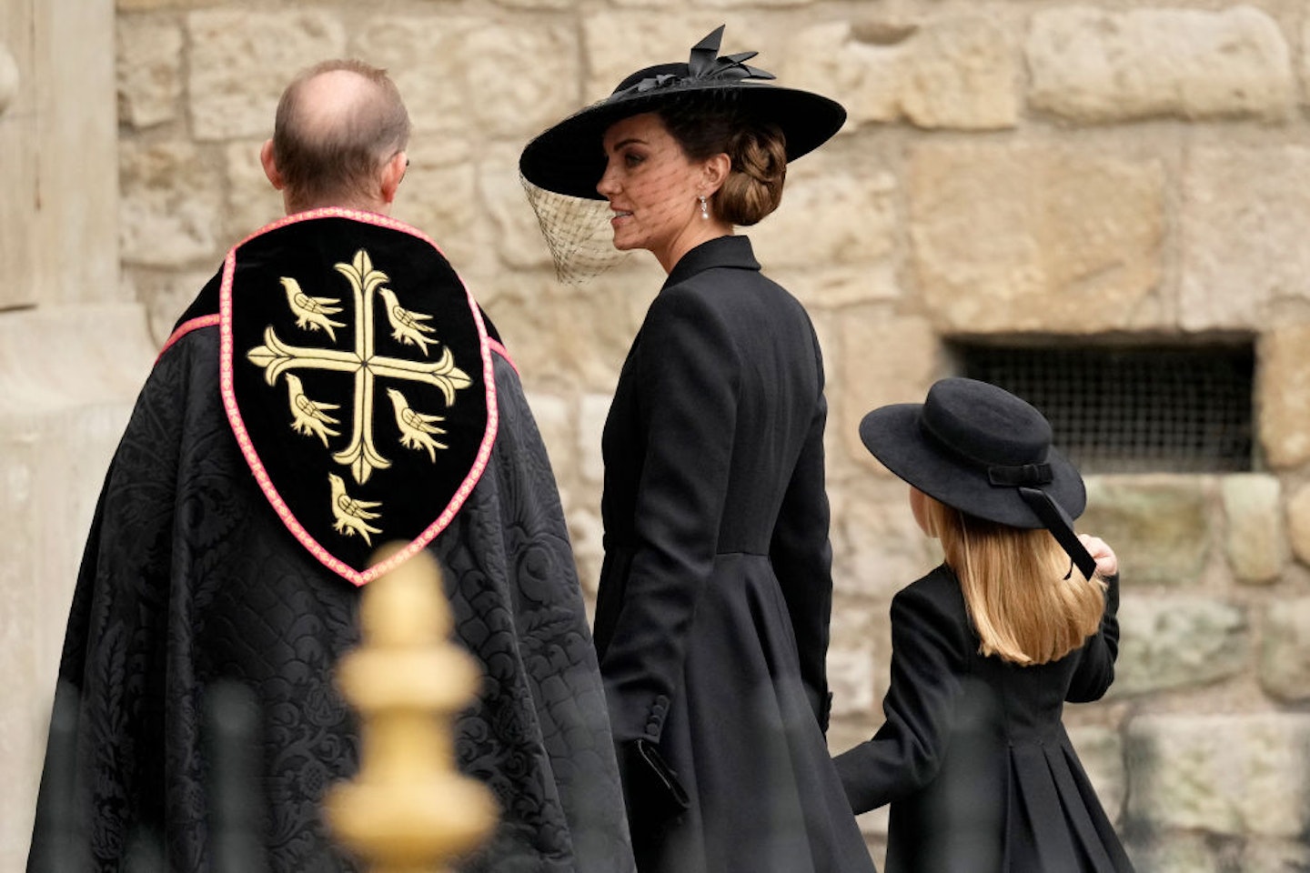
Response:
[[[722,22],[724,51],[850,110],[752,233],[827,355],[833,749],[880,722],[887,606],[934,559],[858,442],[866,410],[921,399],[951,336],[1252,335],[1256,472],[1091,482],[1082,526],[1121,555],[1123,648],[1110,698],[1068,724],[1140,869],[1306,869],[1302,0],[118,0],[127,293],[161,340],[279,212],[255,157],[282,85],[325,56],[388,67],[415,122],[396,215],[445,246],[515,353],[592,585],[600,429],[662,275],[639,253],[555,283],[515,161]]]

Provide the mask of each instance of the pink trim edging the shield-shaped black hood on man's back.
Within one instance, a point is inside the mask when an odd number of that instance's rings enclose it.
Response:
[[[473,488],[477,486],[482,474],[486,471],[487,463],[491,458],[491,448],[495,445],[495,435],[499,429],[500,416],[496,407],[495,397],[495,368],[491,361],[491,347],[494,340],[487,336],[486,325],[482,322],[482,313],[478,310],[477,302],[473,300],[473,294],[469,292],[468,285],[464,284],[464,279],[460,279],[460,285],[464,288],[464,294],[468,300],[469,312],[473,314],[473,321],[478,329],[478,338],[481,339],[481,356],[482,356],[482,382],[486,386],[486,402],[487,402],[487,424],[486,431],[482,435],[482,444],[478,446],[478,453],[474,457],[473,467],[469,470],[469,475],[464,478],[460,487],[456,490],[451,501],[445,505],[445,509],[440,516],[436,517],[431,525],[428,525],[418,537],[414,538],[407,546],[397,551],[394,555],[388,558],[385,561],[373,564],[368,569],[360,572],[354,567],[350,567],[345,561],[334,558],[322,544],[313,538],[313,535],[305,530],[301,524],[292,514],[291,509],[287,507],[282,495],[278,493],[276,487],[274,487],[272,480],[269,478],[267,470],[265,470],[263,462],[259,459],[258,452],[254,449],[254,444],[250,441],[250,435],[246,431],[245,423],[241,419],[241,410],[237,407],[236,391],[232,387],[232,357],[233,357],[233,339],[232,339],[232,279],[236,271],[237,262],[237,249],[250,242],[258,236],[262,236],[270,230],[276,230],[278,228],[284,228],[291,224],[297,224],[300,221],[307,221],[312,219],[351,219],[354,221],[362,221],[364,224],[373,224],[380,228],[389,228],[392,230],[400,230],[402,233],[409,233],[413,237],[427,242],[430,246],[436,249],[441,257],[445,253],[441,251],[440,246],[436,245],[427,234],[422,230],[411,228],[403,221],[397,221],[388,216],[377,215],[373,212],[359,212],[355,209],[342,209],[342,208],[325,208],[325,209],[312,209],[309,212],[297,212],[295,215],[288,215],[272,224],[265,225],[259,230],[252,233],[249,237],[238,242],[236,246],[228,251],[227,258],[223,262],[223,284],[219,291],[219,393],[223,397],[223,407],[227,411],[228,423],[232,425],[232,433],[236,436],[237,445],[241,448],[241,454],[245,457],[246,463],[250,466],[250,472],[254,474],[255,482],[259,484],[259,490],[263,491],[265,497],[272,505],[274,512],[278,513],[278,518],[282,524],[287,526],[291,535],[295,537],[305,550],[309,551],[318,561],[333,571],[338,576],[354,582],[355,585],[365,585],[379,576],[394,569],[400,564],[405,563],[413,558],[419,550],[426,548],[434,538],[455,520],[456,513],[468,500],[469,495],[473,493]],[[199,321],[199,319],[196,319]],[[499,343],[495,343],[499,346]]]

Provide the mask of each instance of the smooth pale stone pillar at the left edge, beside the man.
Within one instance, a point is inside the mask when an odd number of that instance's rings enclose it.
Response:
[[[152,343],[119,288],[114,0],[0,0],[0,873],[26,864],[64,620]]]

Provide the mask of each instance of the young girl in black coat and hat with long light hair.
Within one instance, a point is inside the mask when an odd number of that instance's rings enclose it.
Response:
[[[1132,870],[1061,724],[1114,681],[1119,576],[1051,425],[948,378],[859,436],[946,556],[892,599],[886,722],[836,759],[855,813],[891,804],[887,873]]]

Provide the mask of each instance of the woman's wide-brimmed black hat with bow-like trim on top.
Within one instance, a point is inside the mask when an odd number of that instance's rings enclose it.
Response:
[[[787,161],[812,152],[846,122],[841,103],[795,88],[745,64],[757,52],[718,56],[723,26],[692,48],[688,63],[639,69],[614,92],[570,115],[533,139],[519,157],[519,170],[532,185],[555,194],[603,200],[596,183],[605,171],[603,139],[614,122],[658,109],[662,103],[696,97],[722,98],[747,118],[777,124],[786,139]]]

